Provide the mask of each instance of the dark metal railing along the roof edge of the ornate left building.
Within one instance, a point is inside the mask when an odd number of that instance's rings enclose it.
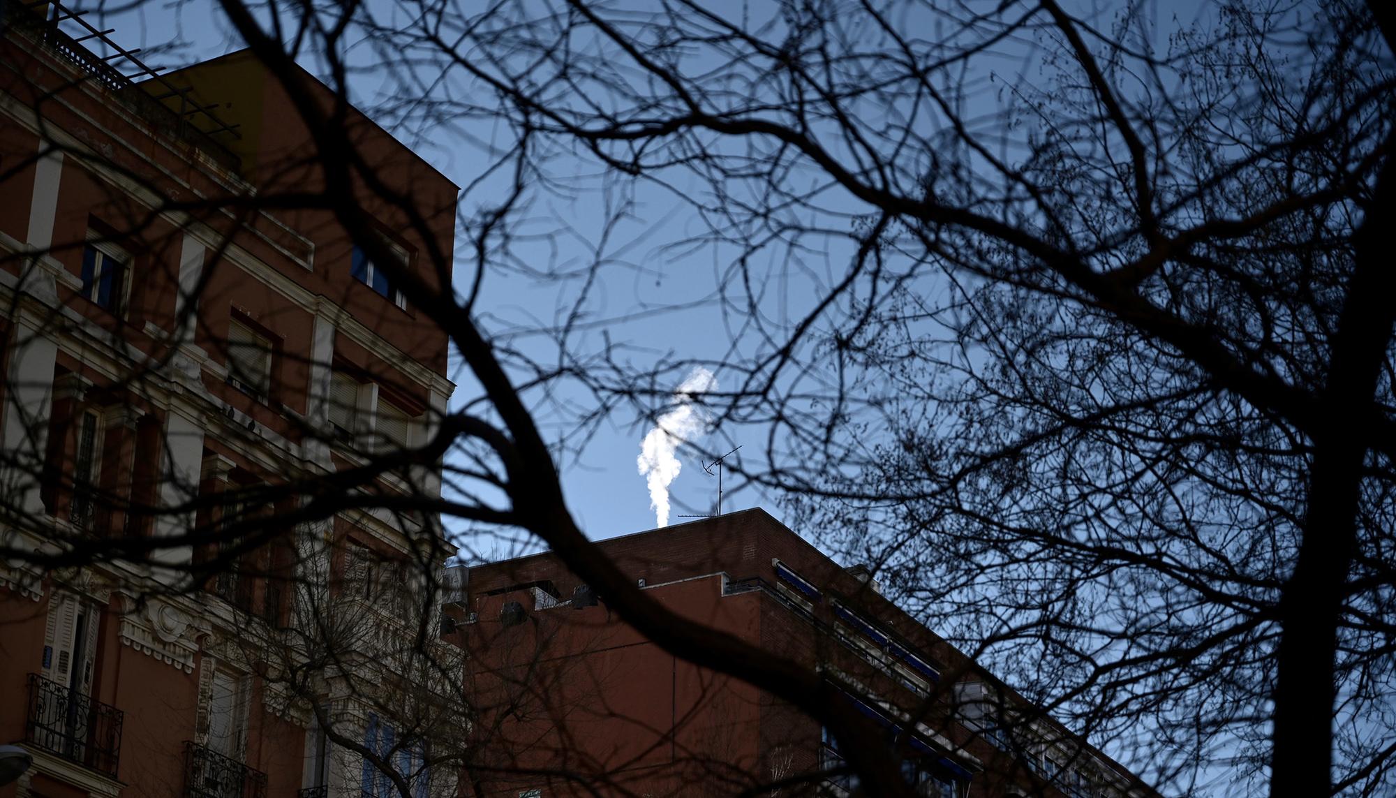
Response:
[[[237,172],[240,159],[214,138],[223,134],[236,137],[237,126],[225,123],[214,113],[218,103],[200,103],[191,89],[177,86],[161,75],[163,67],[145,64],[137,57],[140,47],[127,50],[107,38],[114,28],[98,29],[84,20],[87,11],[74,11],[56,0],[36,3],[0,0],[0,3],[4,4],[7,25],[27,31],[49,52],[82,70],[89,80],[112,92],[123,106],[148,121],[155,131],[172,134],[197,146],[219,166]],[[74,33],[64,31],[61,27],[64,24],[75,27]],[[112,54],[98,56],[84,46],[88,40],[102,43],[112,50]],[[116,63],[128,64],[134,71],[127,74],[119,70]],[[138,78],[152,81],[159,86],[159,93],[151,93],[144,84],[137,84]],[[179,110],[162,102],[170,98],[179,98]],[[200,120],[202,127],[194,120]]]

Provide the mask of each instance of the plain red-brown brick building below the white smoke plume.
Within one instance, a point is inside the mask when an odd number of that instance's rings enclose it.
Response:
[[[888,731],[921,794],[1154,795],[884,598],[866,569],[759,509],[600,545],[670,610],[826,672]],[[451,614],[490,741],[473,777],[484,794],[852,788],[817,721],[676,660],[554,555],[470,568],[468,585]]]

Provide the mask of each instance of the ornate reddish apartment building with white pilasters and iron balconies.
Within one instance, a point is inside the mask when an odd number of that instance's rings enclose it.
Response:
[[[430,614],[406,571],[444,561],[437,520],[310,518],[285,487],[429,439],[445,335],[327,208],[276,201],[325,176],[255,59],[158,74],[59,3],[0,1],[0,543],[71,554],[0,559],[0,742],[34,756],[0,797],[389,794],[336,735],[454,794],[384,709],[420,682],[394,640]],[[448,290],[422,253],[450,257],[456,187],[343,124],[426,219],[359,186],[377,234]],[[325,629],[362,682],[315,671]]]

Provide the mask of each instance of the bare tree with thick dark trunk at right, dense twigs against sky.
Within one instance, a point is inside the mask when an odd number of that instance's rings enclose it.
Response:
[[[575,1],[378,33],[493,89],[519,174],[557,179],[558,142],[701,213],[670,251],[727,264],[704,366],[726,430],[769,434],[747,474],[960,640],[1180,787],[1381,791],[1392,22],[1157,11]],[[655,388],[596,364],[586,310],[554,331],[577,379]]]

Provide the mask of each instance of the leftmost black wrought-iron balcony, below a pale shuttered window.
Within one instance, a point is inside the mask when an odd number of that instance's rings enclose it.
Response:
[[[121,710],[67,685],[29,674],[28,745],[116,778]]]

